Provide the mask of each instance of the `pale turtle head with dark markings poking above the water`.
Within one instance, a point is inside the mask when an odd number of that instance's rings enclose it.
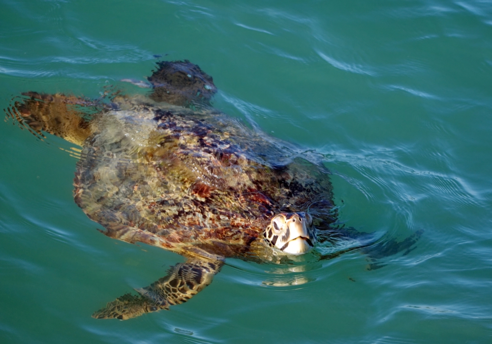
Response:
[[[304,212],[280,213],[263,231],[263,238],[271,247],[292,255],[307,252],[316,243],[316,229],[312,217]]]

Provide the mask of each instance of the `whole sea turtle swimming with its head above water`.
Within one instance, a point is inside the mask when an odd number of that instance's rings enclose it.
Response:
[[[104,234],[186,258],[94,317],[128,319],[183,303],[226,258],[279,262],[317,241],[359,235],[334,226],[329,172],[211,108],[216,87],[197,65],[158,62],[148,81],[148,96],[28,92],[6,109],[40,138],[46,132],[82,146],[74,199]],[[378,252],[409,250],[418,236],[387,241]]]

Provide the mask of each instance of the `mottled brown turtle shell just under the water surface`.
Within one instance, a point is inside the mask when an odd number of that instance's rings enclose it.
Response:
[[[75,201],[108,236],[236,256],[273,215],[333,206],[325,171],[238,120],[138,99],[125,107],[94,120],[74,179]]]

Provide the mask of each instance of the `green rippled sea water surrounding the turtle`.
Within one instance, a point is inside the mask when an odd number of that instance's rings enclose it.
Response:
[[[229,259],[186,304],[96,320],[183,258],[99,233],[69,145],[0,122],[0,343],[492,343],[492,1],[0,2],[2,109],[97,97],[154,55],[322,159],[347,226],[424,235],[373,271],[358,252],[299,272]]]

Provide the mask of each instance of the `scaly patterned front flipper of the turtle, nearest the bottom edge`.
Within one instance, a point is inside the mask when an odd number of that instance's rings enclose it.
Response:
[[[97,319],[126,320],[145,313],[169,309],[188,301],[212,283],[222,260],[188,258],[171,267],[168,275],[148,287],[135,289],[139,295],[125,294],[92,314]]]

